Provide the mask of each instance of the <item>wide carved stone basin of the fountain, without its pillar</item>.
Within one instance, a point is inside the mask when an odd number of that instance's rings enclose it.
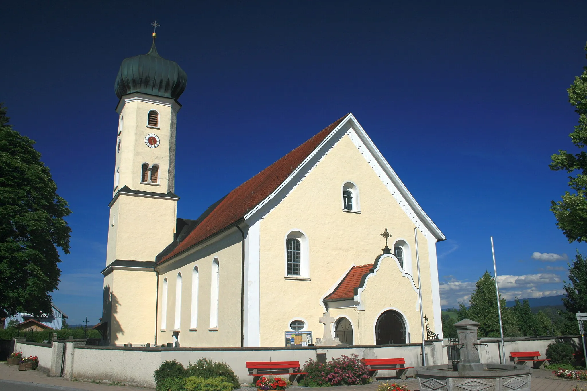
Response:
[[[483,364],[483,370],[431,365],[416,370],[420,391],[530,391],[532,370],[525,365]]]

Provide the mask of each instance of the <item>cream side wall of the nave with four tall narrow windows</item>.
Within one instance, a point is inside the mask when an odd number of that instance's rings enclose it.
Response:
[[[178,256],[173,263],[164,264],[160,269],[158,295],[157,344],[173,342],[176,311],[177,274],[181,273],[181,321],[180,346],[241,346],[241,266],[242,236],[237,229],[210,243],[203,249]],[[218,259],[219,296],[218,328],[210,327],[210,294],[212,281],[212,261]],[[198,321],[197,331],[190,331],[192,281],[194,267],[198,267]],[[163,280],[167,278],[167,318],[166,330],[161,331],[161,314],[163,312]]]

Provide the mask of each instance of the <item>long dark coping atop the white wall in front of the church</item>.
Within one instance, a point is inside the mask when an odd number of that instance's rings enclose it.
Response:
[[[432,346],[433,342],[426,341],[427,346]],[[114,351],[137,351],[137,352],[254,352],[254,351],[324,351],[330,349],[364,349],[364,348],[398,348],[402,346],[421,346],[422,344],[393,344],[393,345],[353,345],[353,346],[295,346],[286,348],[285,346],[257,346],[252,348],[150,348],[144,346],[74,346],[76,349],[93,349],[93,350],[114,350]]]

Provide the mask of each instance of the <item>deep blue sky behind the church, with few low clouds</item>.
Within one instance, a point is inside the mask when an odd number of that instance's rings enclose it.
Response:
[[[55,304],[69,323],[102,308],[117,114],[125,57],[157,48],[188,74],[178,117],[178,216],[195,218],[348,113],[448,240],[438,243],[445,306],[491,270],[504,293],[561,293],[585,252],[549,202],[573,149],[566,88],[587,64],[587,2],[8,2],[0,101],[33,140],[73,213]],[[392,226],[390,226],[392,228]],[[374,256],[375,254],[373,254]],[[353,260],[349,260],[353,261]]]

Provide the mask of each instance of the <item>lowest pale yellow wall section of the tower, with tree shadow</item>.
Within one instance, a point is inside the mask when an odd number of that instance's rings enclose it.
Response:
[[[153,344],[156,287],[154,271],[113,270],[104,277],[110,345]]]

